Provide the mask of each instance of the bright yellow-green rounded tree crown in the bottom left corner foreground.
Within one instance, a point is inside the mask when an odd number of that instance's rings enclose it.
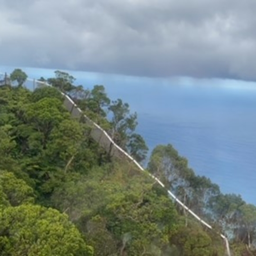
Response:
[[[2,256],[92,256],[67,215],[39,205],[6,207],[0,211]]]

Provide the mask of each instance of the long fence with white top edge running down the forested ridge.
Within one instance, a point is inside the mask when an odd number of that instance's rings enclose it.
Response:
[[[9,82],[9,76],[6,73],[0,73],[0,85]],[[35,79],[27,79],[27,83],[25,86],[34,91],[37,87],[40,86],[51,86],[46,82],[41,82]],[[162,186],[168,194],[183,207],[183,209],[187,210],[195,219],[200,221],[205,227],[215,231],[207,222],[201,219],[197,214],[195,214],[192,210],[190,210],[182,201],[180,201],[170,190],[168,190],[165,185],[154,175],[147,172],[132,156],[130,156],[127,152],[125,152],[122,148],[120,148],[108,135],[108,133],[103,130],[99,125],[89,119],[82,110],[73,102],[73,100],[63,92],[61,92],[64,96],[64,106],[70,112],[73,118],[83,119],[83,121],[91,126],[91,137],[99,143],[101,147],[103,147],[107,152],[110,153],[111,156],[122,158],[125,157],[129,162],[133,163],[139,170],[146,172],[152,179],[154,179],[160,186]],[[215,231],[217,232],[217,231]],[[217,232],[219,234],[219,232]],[[231,256],[229,249],[229,240],[223,234],[219,234],[220,237],[224,240],[227,250],[227,256]]]

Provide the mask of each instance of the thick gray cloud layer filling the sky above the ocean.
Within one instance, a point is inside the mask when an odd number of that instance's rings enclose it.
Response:
[[[0,64],[256,79],[255,0],[0,0]]]

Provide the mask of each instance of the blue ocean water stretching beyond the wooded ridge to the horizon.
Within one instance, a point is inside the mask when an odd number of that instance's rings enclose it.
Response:
[[[24,70],[32,78],[54,76]],[[172,144],[196,174],[256,204],[256,83],[70,73],[77,84],[103,84],[110,99],[128,102],[150,150]]]

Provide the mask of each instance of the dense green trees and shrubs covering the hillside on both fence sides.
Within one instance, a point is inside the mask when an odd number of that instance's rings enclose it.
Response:
[[[102,85],[75,86],[56,71],[53,87],[28,91],[15,70],[0,86],[0,255],[223,256],[219,234],[168,198],[146,173],[104,152],[82,120],[64,109],[60,91],[108,131],[137,161],[147,147],[137,114]],[[256,242],[256,207],[197,176],[171,146],[157,146],[148,171],[215,230],[232,255],[250,256]]]

